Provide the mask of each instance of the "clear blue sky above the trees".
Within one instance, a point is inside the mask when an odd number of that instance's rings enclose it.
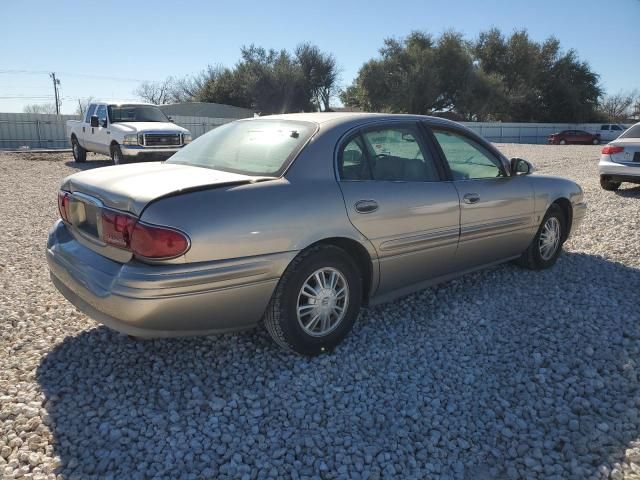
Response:
[[[578,51],[608,92],[640,88],[640,0],[567,1],[29,1],[5,0],[0,28],[0,112],[52,102],[55,71],[63,113],[78,97],[134,98],[140,80],[232,66],[240,47],[293,49],[310,41],[332,52],[348,85],[386,37],[492,26],[551,35]],[[38,73],[44,72],[44,73]]]

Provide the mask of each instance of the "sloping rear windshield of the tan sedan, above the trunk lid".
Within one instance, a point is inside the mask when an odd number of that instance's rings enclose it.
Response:
[[[289,120],[241,120],[197,138],[167,163],[244,175],[279,176],[315,132],[315,125]]]

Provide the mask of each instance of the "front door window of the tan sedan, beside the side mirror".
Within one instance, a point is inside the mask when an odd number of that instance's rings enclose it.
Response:
[[[506,176],[502,162],[482,145],[448,130],[433,130],[454,180]]]

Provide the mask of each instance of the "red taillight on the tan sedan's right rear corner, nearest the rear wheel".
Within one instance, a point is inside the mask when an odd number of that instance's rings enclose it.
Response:
[[[189,239],[182,232],[109,210],[102,212],[102,240],[146,258],[177,257],[189,248]]]

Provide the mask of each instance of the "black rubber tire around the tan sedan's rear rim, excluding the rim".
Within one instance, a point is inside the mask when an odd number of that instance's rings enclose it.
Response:
[[[298,297],[307,279],[322,268],[332,268],[343,275],[348,287],[348,303],[344,317],[332,331],[312,336],[298,321]],[[317,245],[301,252],[287,267],[271,297],[264,324],[281,347],[303,355],[318,355],[331,351],[351,331],[361,303],[362,277],[353,259],[341,248]]]

